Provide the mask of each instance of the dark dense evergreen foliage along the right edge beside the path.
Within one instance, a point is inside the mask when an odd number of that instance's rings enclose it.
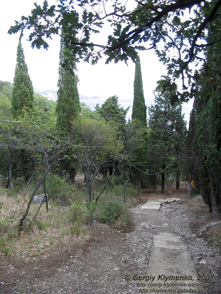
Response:
[[[208,39],[214,39],[220,17],[210,26]],[[213,202],[221,207],[221,96],[220,96],[220,52],[221,46],[207,51],[207,63],[201,71],[202,79],[198,83],[198,91],[194,98],[190,116],[188,149],[188,168],[195,182],[196,192],[202,197],[212,212]],[[214,199],[214,200],[213,200]]]

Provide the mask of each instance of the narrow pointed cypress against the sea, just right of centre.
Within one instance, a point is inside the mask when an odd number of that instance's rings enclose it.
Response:
[[[140,57],[137,56],[133,83],[132,123],[138,123],[141,128],[146,128],[146,109]],[[144,146],[143,149],[134,151],[131,157],[133,164],[133,167],[131,168],[132,182],[139,188],[142,187],[143,171],[146,171],[147,149],[145,147],[147,146]]]

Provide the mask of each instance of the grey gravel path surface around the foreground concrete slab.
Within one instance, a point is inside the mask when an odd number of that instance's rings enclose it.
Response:
[[[215,275],[208,281],[207,293],[221,293],[220,253],[191,231],[191,222],[194,221],[191,209],[187,199],[163,205],[160,211],[144,210],[138,205],[131,209],[134,230],[130,233],[121,233],[110,225],[94,222],[92,241],[66,248],[67,258],[63,259],[61,252],[60,262],[54,265],[53,271],[45,268],[46,264],[52,263],[52,256],[26,264],[24,275],[15,270],[13,277],[8,270],[9,280],[0,286],[0,293],[139,293],[138,281],[133,280],[133,276],[146,274],[152,233],[164,231],[183,236],[197,274]],[[206,264],[200,264],[202,259]],[[125,279],[127,274],[132,276],[131,280]]]

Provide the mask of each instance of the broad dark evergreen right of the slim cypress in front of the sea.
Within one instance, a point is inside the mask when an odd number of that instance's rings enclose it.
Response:
[[[179,154],[182,149],[185,123],[181,113],[180,103],[173,106],[170,101],[171,93],[157,93],[155,104],[149,108],[149,161],[151,173],[161,173],[161,193],[164,193],[165,174],[176,168],[179,182]],[[170,168],[167,167],[170,165]],[[154,184],[154,183],[153,183]],[[179,188],[179,183],[177,183]]]

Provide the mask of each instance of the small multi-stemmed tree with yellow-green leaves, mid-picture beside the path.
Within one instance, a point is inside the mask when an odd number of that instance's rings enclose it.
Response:
[[[110,180],[122,163],[128,163],[131,152],[143,148],[146,138],[140,125],[125,126],[123,140],[117,136],[116,126],[106,123],[103,119],[95,119],[81,115],[73,122],[73,132],[79,140],[73,146],[73,152],[83,166],[86,179],[86,201],[92,200],[92,187],[95,177],[107,163],[113,166],[112,173],[105,182],[101,192],[103,194]],[[107,156],[108,155],[108,156]]]

